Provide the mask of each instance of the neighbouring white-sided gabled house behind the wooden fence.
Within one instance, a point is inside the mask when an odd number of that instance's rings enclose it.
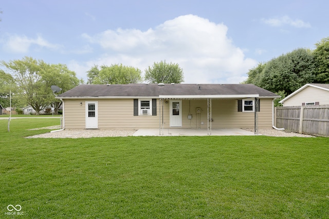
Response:
[[[329,104],[329,84],[306,84],[279,103],[285,107]]]

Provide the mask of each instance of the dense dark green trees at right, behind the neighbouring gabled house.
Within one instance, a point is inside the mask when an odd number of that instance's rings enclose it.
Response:
[[[316,43],[316,49],[298,48],[250,69],[246,84],[254,84],[282,97],[308,83],[329,83],[329,37]]]

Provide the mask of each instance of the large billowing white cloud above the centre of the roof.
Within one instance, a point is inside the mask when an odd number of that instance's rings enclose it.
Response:
[[[185,83],[239,83],[257,62],[245,58],[243,50],[227,37],[227,30],[224,24],[184,15],[147,31],[117,29],[94,36],[83,34],[89,43],[101,46],[103,55],[82,65],[90,68],[122,63],[144,71],[154,62],[166,60],[183,68]]]

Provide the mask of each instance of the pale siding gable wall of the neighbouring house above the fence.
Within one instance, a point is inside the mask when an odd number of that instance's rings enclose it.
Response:
[[[302,103],[319,102],[319,105],[329,104],[329,91],[308,86],[294,96],[288,98],[283,106],[302,106]]]

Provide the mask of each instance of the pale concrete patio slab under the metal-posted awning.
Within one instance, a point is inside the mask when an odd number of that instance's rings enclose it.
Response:
[[[243,129],[139,129],[133,136],[205,136],[205,135],[255,135]]]

